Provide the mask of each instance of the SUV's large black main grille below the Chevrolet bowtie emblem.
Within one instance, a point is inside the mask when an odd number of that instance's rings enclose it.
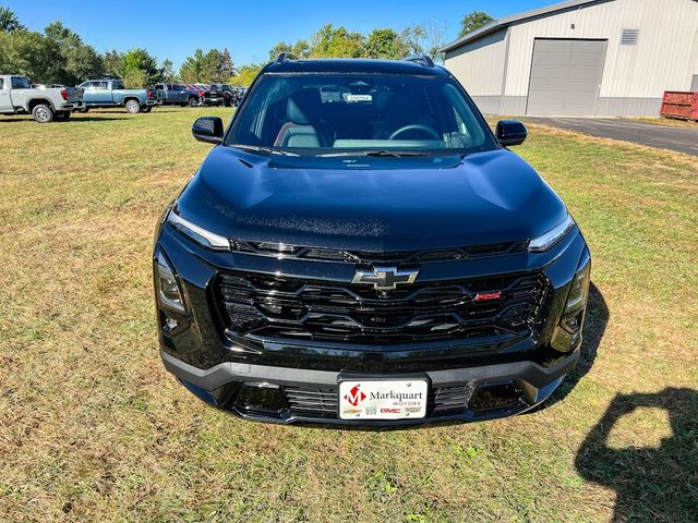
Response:
[[[358,344],[509,336],[534,329],[545,296],[540,275],[413,283],[395,291],[272,275],[220,275],[215,292],[228,331],[253,340]],[[477,301],[479,293],[501,297]]]

